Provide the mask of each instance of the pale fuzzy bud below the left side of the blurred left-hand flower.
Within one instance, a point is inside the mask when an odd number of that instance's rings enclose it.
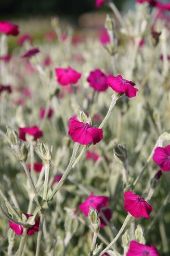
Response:
[[[28,149],[24,142],[19,140],[17,145],[11,144],[11,149],[19,161],[27,160]]]

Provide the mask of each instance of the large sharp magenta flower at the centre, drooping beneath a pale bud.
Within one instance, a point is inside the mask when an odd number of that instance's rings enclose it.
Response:
[[[82,145],[96,144],[101,141],[103,131],[88,123],[80,122],[77,117],[72,117],[69,120],[69,135],[74,142],[79,142]]]

